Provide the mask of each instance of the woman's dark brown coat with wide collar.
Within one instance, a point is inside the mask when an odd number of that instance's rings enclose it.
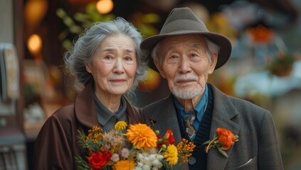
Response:
[[[34,169],[76,169],[75,156],[83,149],[77,142],[78,130],[85,133],[99,125],[89,84],[75,103],[58,109],[41,128],[34,150]],[[127,123],[143,123],[137,108],[127,101]],[[84,155],[81,155],[82,157]]]

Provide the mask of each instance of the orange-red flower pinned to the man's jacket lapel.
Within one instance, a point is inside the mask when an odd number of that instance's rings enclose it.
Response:
[[[221,149],[228,150],[236,142],[236,137],[230,130],[217,128],[218,142],[221,144]]]

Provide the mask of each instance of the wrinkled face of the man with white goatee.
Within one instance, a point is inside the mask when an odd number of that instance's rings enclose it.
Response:
[[[169,37],[163,40],[160,52],[164,57],[162,67],[154,62],[174,96],[182,99],[202,96],[208,74],[216,66],[216,55],[206,55],[206,42],[197,35]]]

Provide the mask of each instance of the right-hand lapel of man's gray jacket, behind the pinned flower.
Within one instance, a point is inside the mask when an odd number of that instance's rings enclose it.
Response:
[[[221,91],[216,89],[215,86],[209,84],[213,91],[213,115],[210,130],[210,140],[216,134],[217,128],[225,128],[231,130],[234,135],[238,135],[240,127],[234,123],[231,119],[234,118],[238,111],[233,106],[233,103],[229,101],[228,96],[223,94]],[[235,143],[234,143],[235,145]],[[233,146],[226,151],[228,157],[231,155]],[[207,168],[208,169],[225,169],[228,162],[228,157],[224,157],[217,148],[211,148],[208,152],[207,157]]]

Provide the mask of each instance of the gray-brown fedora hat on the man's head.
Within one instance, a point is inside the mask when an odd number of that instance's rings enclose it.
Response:
[[[190,8],[187,7],[174,8],[171,13],[169,13],[167,21],[165,21],[159,35],[153,35],[145,38],[141,42],[141,48],[142,50],[147,50],[149,52],[148,57],[150,57],[154,46],[157,45],[160,40],[173,35],[187,34],[204,35],[206,38],[215,42],[216,45],[221,47],[215,69],[223,66],[223,64],[228,61],[232,50],[230,40],[224,35],[211,33],[206,28],[205,23],[201,21]],[[157,71],[157,68],[154,66],[152,60],[149,62],[149,67]]]

